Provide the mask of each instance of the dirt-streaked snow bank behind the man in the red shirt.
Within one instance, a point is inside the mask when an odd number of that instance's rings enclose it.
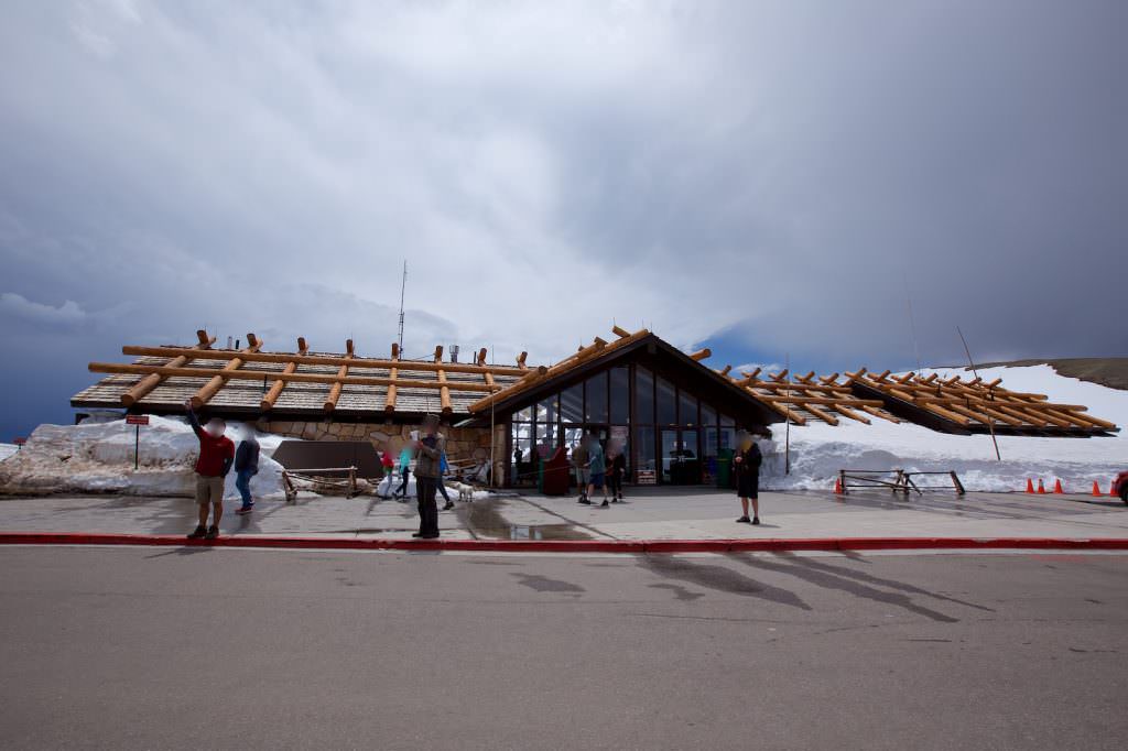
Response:
[[[228,438],[237,440],[236,426]],[[139,469],[133,469],[134,427],[124,419],[80,425],[39,425],[24,450],[0,463],[0,492],[9,494],[123,493],[192,496],[193,465],[199,441],[183,419],[151,416],[141,426]],[[256,498],[284,497],[282,466],[271,454],[282,438],[258,434],[262,456],[250,481]],[[227,477],[224,498],[238,497],[235,472]]]

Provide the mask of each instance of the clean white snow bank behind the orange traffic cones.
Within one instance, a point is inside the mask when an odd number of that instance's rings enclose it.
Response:
[[[967,376],[963,370],[927,370],[941,377]],[[948,435],[919,425],[873,418],[872,425],[841,419],[838,427],[809,423],[791,427],[791,474],[784,474],[784,426],[773,426],[773,440],[761,443],[765,488],[817,488],[834,485],[839,469],[955,470],[969,491],[1020,491],[1026,478],[1060,478],[1066,492],[1087,493],[1093,480],[1107,493],[1117,472],[1128,469],[1128,391],[1058,376],[1049,365],[990,368],[985,381],[1003,379],[1014,391],[1046,394],[1051,401],[1081,404],[1121,432],[1113,438],[1065,439],[998,436],[1003,461],[995,459],[989,435]],[[943,478],[934,478],[940,484]]]

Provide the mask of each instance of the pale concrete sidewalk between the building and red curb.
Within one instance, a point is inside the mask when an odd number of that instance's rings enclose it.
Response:
[[[731,493],[633,488],[623,504],[583,506],[574,497],[499,496],[439,514],[447,540],[721,540],[811,538],[1128,539],[1128,506],[1090,496],[951,493],[908,501],[885,492],[764,493],[760,527],[735,523]],[[409,539],[415,503],[371,496],[261,502],[247,516],[227,510],[223,536]],[[0,500],[0,532],[185,534],[190,498],[46,496]]]

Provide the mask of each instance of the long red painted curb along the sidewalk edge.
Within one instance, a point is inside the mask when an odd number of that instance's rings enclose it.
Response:
[[[1128,539],[1052,537],[846,537],[750,540],[389,540],[316,537],[0,532],[0,545],[124,545],[323,550],[478,550],[490,553],[770,553],[782,550],[1128,550]]]

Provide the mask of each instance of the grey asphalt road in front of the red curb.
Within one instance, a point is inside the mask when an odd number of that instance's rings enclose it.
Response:
[[[1113,749],[1128,556],[0,549],[0,746]]]

